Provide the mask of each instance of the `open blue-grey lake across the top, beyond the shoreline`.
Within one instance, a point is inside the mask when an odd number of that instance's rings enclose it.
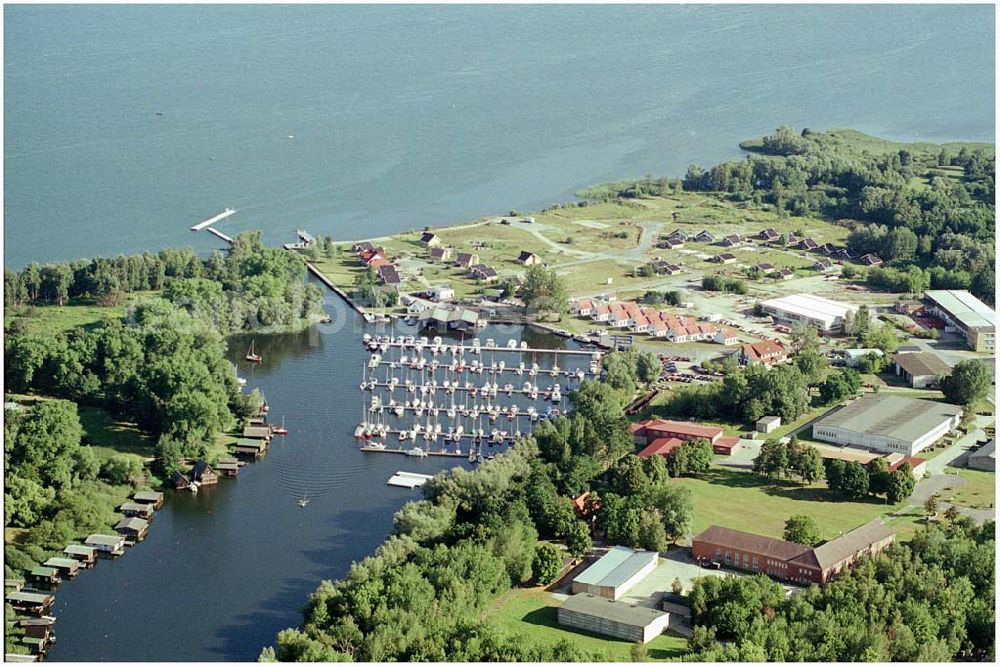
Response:
[[[992,141],[993,16],[6,6],[5,261],[208,248],[227,206],[272,241],[526,210],[782,123]]]

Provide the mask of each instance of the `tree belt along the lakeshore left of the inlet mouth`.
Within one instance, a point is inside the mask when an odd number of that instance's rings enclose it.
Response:
[[[224,334],[287,327],[320,312],[323,293],[305,282],[305,262],[244,232],[227,253],[202,259],[190,249],[116,258],[80,259],[4,271],[4,304],[115,305],[130,294],[160,292],[171,303],[211,321]]]

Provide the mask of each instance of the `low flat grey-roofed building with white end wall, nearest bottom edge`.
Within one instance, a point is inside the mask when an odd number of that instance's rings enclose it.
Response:
[[[667,627],[670,614],[651,607],[579,593],[559,607],[559,625],[643,644]]]

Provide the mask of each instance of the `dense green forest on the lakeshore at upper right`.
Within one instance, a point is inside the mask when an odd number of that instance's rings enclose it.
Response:
[[[993,147],[891,144],[851,131],[787,127],[741,145],[751,151],[747,159],[692,165],[683,179],[647,178],[581,194],[715,192],[782,215],[822,216],[850,229],[855,256],[874,253],[886,262],[868,272],[872,287],[968,289],[994,303]]]

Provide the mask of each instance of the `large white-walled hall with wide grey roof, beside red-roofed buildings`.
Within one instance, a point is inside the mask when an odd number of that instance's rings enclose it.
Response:
[[[869,394],[827,414],[813,426],[816,440],[914,456],[948,432],[962,408],[893,394]]]

